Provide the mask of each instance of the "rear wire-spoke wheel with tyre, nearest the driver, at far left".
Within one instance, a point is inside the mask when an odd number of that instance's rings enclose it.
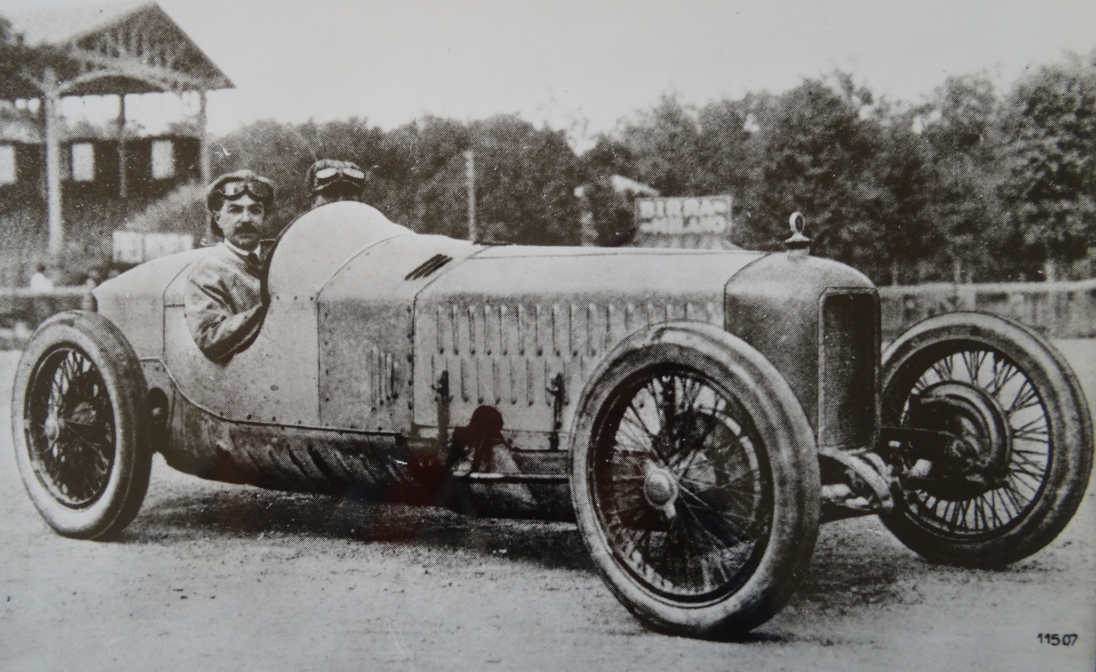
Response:
[[[16,462],[58,533],[104,537],[136,515],[151,468],[147,397],[133,349],[102,316],[54,316],[27,343],[12,392]]]

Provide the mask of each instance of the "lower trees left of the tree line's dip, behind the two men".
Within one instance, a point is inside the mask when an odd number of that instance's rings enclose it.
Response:
[[[468,123],[426,116],[388,133],[351,118],[293,125],[261,121],[214,145],[215,172],[250,168],[274,181],[275,224],[309,206],[304,183],[317,158],[354,161],[369,173],[363,198],[393,221],[427,234],[465,237],[464,151],[476,152],[481,238],[575,244],[583,173],[563,133],[514,115]]]

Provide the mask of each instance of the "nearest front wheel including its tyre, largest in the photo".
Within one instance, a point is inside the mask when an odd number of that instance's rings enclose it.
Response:
[[[572,497],[633,614],[673,633],[741,633],[783,606],[810,559],[818,456],[762,355],[703,328],[674,340],[625,353],[583,395]]]

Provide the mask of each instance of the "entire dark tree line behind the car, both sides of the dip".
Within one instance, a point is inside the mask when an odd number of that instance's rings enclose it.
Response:
[[[307,208],[308,166],[341,158],[369,172],[365,200],[392,220],[464,237],[472,149],[486,239],[576,244],[574,190],[587,185],[598,242],[627,242],[632,206],[609,186],[620,174],[666,196],[731,194],[735,237],[755,249],[779,249],[802,210],[819,254],[878,283],[1089,276],[1096,50],[1032,68],[1005,92],[984,72],[948,77],[921,104],[841,71],[699,106],[664,95],[581,155],[564,132],[516,115],[387,132],[364,118],[261,121],[214,149],[217,171],[275,181],[285,221]]]

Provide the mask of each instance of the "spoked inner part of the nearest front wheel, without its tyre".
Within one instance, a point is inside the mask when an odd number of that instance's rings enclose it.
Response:
[[[612,400],[592,465],[614,556],[648,590],[705,602],[765,551],[773,483],[742,405],[701,373],[653,367]]]

